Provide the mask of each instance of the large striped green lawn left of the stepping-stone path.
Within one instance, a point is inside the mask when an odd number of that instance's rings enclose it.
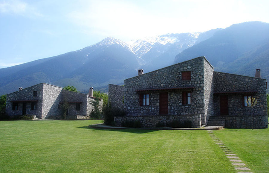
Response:
[[[88,128],[101,122],[0,121],[0,172],[236,172],[206,130]]]

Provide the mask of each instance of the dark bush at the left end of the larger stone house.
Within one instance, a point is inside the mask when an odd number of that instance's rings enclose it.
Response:
[[[109,102],[104,108],[103,108],[103,115],[104,115],[104,123],[106,125],[112,125],[114,126],[114,116],[125,116],[126,111],[120,108],[111,108],[111,103]]]

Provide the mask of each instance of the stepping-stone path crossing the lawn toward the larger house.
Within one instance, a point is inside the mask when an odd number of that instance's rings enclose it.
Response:
[[[240,158],[236,154],[234,154],[227,146],[225,146],[225,144],[221,140],[219,140],[213,134],[212,130],[208,130],[207,132],[212,137],[215,144],[217,144],[222,149],[222,151],[225,153],[226,157],[230,159],[230,162],[235,167],[235,169],[237,171],[241,171],[238,173],[252,173],[252,172],[250,172],[250,169],[248,167],[246,167],[246,164],[244,164],[242,162],[242,160],[240,160]],[[247,172],[245,172],[245,171],[247,171]]]

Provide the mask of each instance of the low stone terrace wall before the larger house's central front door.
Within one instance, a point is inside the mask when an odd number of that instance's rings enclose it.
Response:
[[[115,116],[114,121],[116,126],[121,126],[124,121],[140,121],[142,127],[156,127],[158,122],[164,124],[172,121],[192,121],[192,128],[201,128],[200,115],[149,115],[149,116]]]

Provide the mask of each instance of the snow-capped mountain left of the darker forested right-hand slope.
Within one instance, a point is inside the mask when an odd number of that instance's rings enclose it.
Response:
[[[123,84],[139,68],[149,72],[171,65],[175,55],[197,43],[201,35],[204,40],[216,31],[166,34],[128,43],[108,37],[74,52],[2,68],[0,95],[42,82],[73,85],[85,92],[90,86],[106,91],[107,84]]]

